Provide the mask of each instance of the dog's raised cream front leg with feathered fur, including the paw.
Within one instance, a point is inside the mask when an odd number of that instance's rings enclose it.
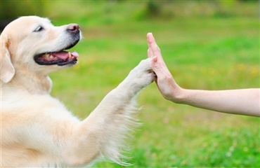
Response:
[[[67,151],[72,165],[82,165],[105,156],[122,164],[124,139],[136,126],[135,97],[152,83],[151,59],[141,61],[127,78],[108,93],[97,108],[74,129]],[[67,160],[68,161],[68,160]]]

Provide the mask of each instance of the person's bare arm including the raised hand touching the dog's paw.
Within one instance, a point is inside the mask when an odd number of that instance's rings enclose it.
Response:
[[[223,113],[260,116],[260,89],[216,91],[183,89],[167,69],[155,38],[151,33],[147,38],[148,57],[152,58],[152,69],[157,75],[155,83],[165,99]]]

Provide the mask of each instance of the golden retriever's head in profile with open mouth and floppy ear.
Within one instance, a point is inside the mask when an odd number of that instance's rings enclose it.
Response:
[[[1,80],[8,83],[20,68],[47,75],[60,66],[76,64],[77,52],[65,50],[80,38],[77,24],[54,27],[50,20],[37,16],[14,20],[1,33]]]

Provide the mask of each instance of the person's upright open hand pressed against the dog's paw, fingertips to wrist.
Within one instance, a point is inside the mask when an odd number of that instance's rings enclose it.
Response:
[[[174,78],[171,76],[169,69],[162,58],[160,48],[155,42],[152,33],[147,34],[148,42],[148,57],[152,58],[152,70],[155,71],[157,79],[155,83],[159,88],[162,96],[172,102],[179,102],[181,95],[181,87],[177,85]]]

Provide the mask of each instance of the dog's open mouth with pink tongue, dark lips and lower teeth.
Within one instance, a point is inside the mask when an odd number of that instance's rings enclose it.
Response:
[[[39,54],[34,57],[34,61],[40,65],[53,65],[57,64],[58,66],[64,65],[74,65],[77,63],[77,57],[79,54],[74,52],[68,52],[61,50],[58,52],[46,52],[44,54]]]

